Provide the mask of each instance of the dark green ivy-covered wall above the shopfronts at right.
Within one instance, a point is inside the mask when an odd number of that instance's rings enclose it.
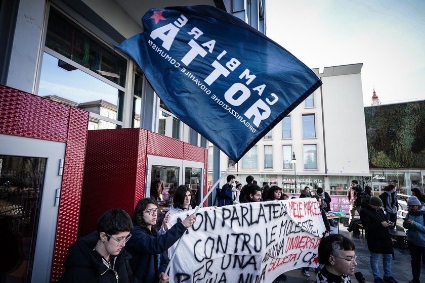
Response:
[[[425,101],[365,107],[369,167],[425,168]]]

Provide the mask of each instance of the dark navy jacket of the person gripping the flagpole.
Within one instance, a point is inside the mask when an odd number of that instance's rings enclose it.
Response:
[[[161,235],[153,227],[149,230],[147,227],[134,226],[131,231],[132,238],[126,243],[125,249],[132,255],[130,265],[138,282],[158,282],[158,275],[165,272],[169,262],[168,248],[173,246],[185,231],[182,222],[177,222]]]

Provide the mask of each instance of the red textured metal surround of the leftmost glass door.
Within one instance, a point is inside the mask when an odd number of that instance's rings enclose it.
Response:
[[[0,133],[66,143],[52,281],[76,240],[89,113],[0,85]]]

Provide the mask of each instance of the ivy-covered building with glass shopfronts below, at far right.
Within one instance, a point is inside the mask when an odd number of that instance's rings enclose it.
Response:
[[[373,99],[378,99],[373,91]],[[388,184],[410,196],[423,192],[425,176],[425,101],[373,104],[364,108],[367,147],[374,194]],[[406,197],[405,196],[405,197]]]

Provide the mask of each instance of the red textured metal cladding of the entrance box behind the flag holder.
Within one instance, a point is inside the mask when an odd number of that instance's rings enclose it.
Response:
[[[96,230],[110,208],[133,213],[145,197],[147,155],[203,162],[206,172],[203,148],[141,128],[89,131],[78,237]],[[206,175],[204,184],[206,192]]]

